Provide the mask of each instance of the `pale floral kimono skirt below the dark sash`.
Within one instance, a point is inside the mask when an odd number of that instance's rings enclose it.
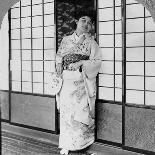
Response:
[[[59,148],[81,150],[94,142],[94,119],[90,116],[82,73],[63,71],[60,91]]]

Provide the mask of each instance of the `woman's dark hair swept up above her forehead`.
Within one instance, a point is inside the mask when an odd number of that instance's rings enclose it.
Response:
[[[76,20],[79,20],[81,17],[83,16],[88,16],[90,17],[92,23],[95,22],[96,20],[96,15],[95,15],[95,11],[94,10],[86,10],[86,9],[82,9],[82,10],[77,10],[75,13],[74,13],[74,18]]]

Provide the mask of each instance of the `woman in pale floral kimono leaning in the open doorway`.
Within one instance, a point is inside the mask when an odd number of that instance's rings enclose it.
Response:
[[[91,36],[91,13],[79,12],[75,32],[63,38],[56,55],[56,71],[63,78],[57,94],[60,110],[60,154],[81,150],[94,142],[96,76],[101,53]]]

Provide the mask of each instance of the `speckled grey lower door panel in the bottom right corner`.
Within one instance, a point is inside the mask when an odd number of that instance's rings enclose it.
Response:
[[[125,145],[155,151],[155,111],[134,107],[125,111]]]

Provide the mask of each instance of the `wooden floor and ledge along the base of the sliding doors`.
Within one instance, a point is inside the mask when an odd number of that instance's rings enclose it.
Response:
[[[58,135],[2,123],[2,155],[59,155]],[[142,155],[121,148],[94,143],[69,155]]]

